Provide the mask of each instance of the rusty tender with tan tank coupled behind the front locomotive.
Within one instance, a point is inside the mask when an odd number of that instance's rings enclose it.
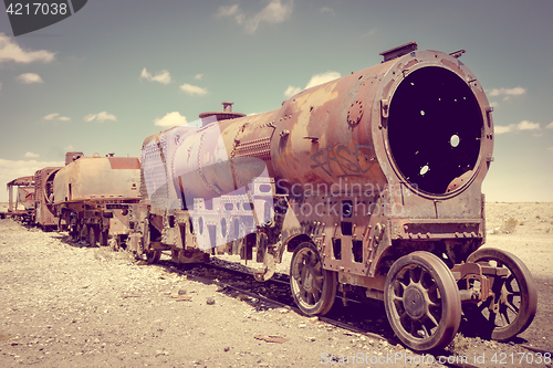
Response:
[[[92,157],[67,153],[53,179],[53,202],[60,230],[91,245],[118,249],[131,229],[129,204],[137,203],[140,161],[137,157]]]

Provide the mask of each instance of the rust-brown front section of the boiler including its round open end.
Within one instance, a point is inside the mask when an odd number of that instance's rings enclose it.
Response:
[[[398,183],[432,198],[483,179],[493,127],[474,75],[452,55],[400,51],[284,103],[275,132],[282,138],[271,145],[279,177],[327,186],[337,178],[362,187]]]

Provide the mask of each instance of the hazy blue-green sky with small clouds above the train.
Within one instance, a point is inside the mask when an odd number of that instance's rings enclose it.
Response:
[[[139,156],[157,124],[279,108],[286,92],[378,64],[467,50],[494,106],[489,201],[553,201],[553,1],[91,0],[14,38],[0,12],[0,183],[66,150]],[[7,201],[0,190],[0,201]]]

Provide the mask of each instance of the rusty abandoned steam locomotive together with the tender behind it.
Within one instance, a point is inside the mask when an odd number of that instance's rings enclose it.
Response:
[[[409,43],[269,113],[223,103],[201,126],[147,137],[142,165],[70,155],[49,200],[74,236],[148,262],[254,256],[265,281],[292,252],[301,311],[325,314],[340,284],[355,285],[416,350],[448,345],[462,313],[510,339],[536,288],[517,256],[479,249],[492,108],[461,53]]]

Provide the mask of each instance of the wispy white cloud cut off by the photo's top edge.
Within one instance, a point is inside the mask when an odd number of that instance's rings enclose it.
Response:
[[[246,32],[253,34],[262,22],[279,24],[288,20],[292,13],[293,6],[293,0],[289,0],[285,3],[282,0],[271,0],[263,10],[253,15],[247,15],[238,4],[221,6],[217,10],[216,15],[219,18],[234,18],[236,22],[242,25]]]

